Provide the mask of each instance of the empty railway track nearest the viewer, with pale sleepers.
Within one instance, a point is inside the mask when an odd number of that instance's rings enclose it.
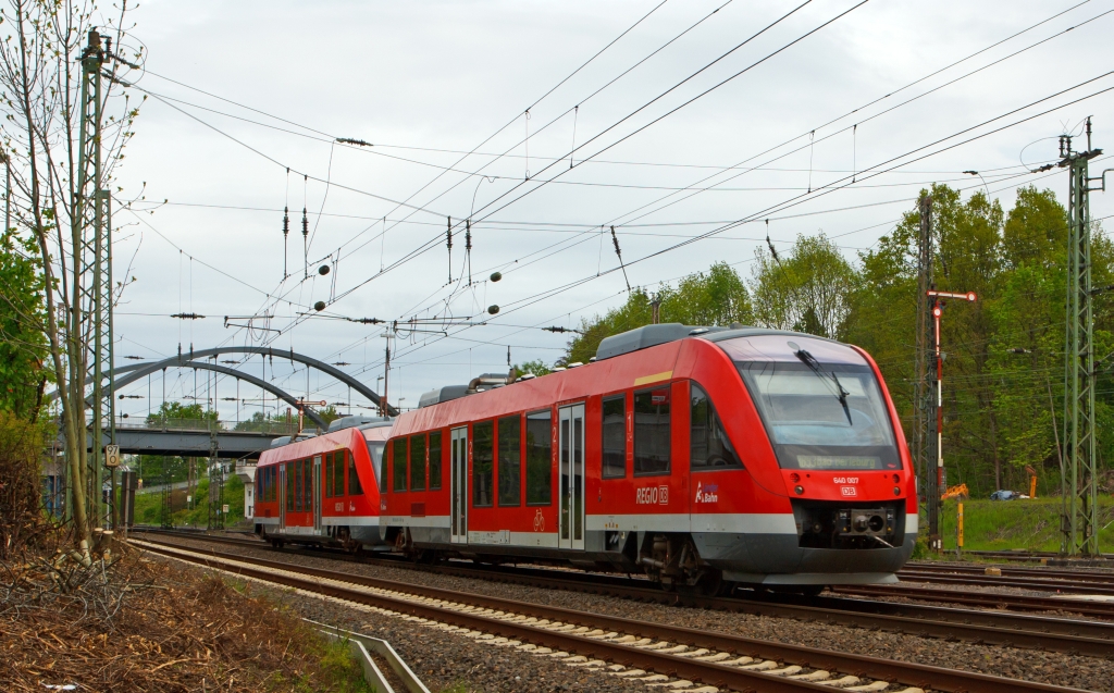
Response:
[[[466,631],[477,642],[561,657],[647,683],[671,677],[736,691],[1068,693],[1051,684],[771,643],[486,595],[404,584],[264,558],[136,541],[147,550]],[[610,664],[609,664],[610,663]],[[892,685],[891,685],[892,684]],[[677,687],[683,687],[678,685]],[[705,689],[711,693],[711,689]]]

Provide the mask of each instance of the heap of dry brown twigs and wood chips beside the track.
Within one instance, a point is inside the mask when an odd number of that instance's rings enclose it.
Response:
[[[6,691],[330,690],[324,653],[274,605],[137,550],[88,566],[63,554],[0,563]]]

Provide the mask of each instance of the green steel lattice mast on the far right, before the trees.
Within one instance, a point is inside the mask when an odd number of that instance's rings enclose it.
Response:
[[[1095,352],[1094,316],[1091,301],[1091,204],[1092,189],[1105,191],[1105,176],[1091,178],[1088,162],[1102,149],[1091,147],[1091,118],[1086,120],[1087,148],[1072,149],[1072,136],[1059,138],[1061,160],[1067,168],[1067,320],[1064,349],[1064,457],[1066,474],[1061,477],[1063,499],[1062,553],[1098,554],[1098,482],[1095,441]],[[1102,182],[1091,188],[1094,180]],[[1101,291],[1101,290],[1100,290]]]

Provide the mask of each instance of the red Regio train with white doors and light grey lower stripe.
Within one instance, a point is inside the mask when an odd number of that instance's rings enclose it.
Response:
[[[710,592],[892,582],[912,552],[909,451],[857,346],[648,325],[605,339],[590,363],[506,380],[427,393],[390,428],[268,450],[260,469],[280,471],[262,475],[272,486],[261,487],[258,531],[426,559],[645,572]],[[369,452],[375,431],[389,436],[381,456]],[[359,495],[350,480],[341,496],[317,461],[341,448]],[[326,494],[282,469],[309,470]]]

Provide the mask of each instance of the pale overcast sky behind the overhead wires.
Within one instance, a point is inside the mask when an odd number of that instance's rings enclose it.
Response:
[[[1040,177],[1023,163],[1054,158],[1056,136],[1087,115],[1094,145],[1114,146],[1114,91],[1037,116],[1114,87],[1101,77],[1111,0],[815,0],[793,12],[799,4],[148,0],[131,16],[131,42],[146,47],[138,86],[152,96],[117,173],[119,199],[141,196],[133,208],[153,213],[115,212],[117,276],[136,280],[116,314],[117,361],[179,344],[270,344],[345,363],[378,389],[383,329],[340,319],[449,315],[452,325],[394,344],[390,400],[409,408],[434,387],[506,371],[508,345],[514,362],[553,362],[569,335],[538,328],[619,305],[626,283],[610,225],[632,285],[653,290],[719,261],[749,280],[766,218],[781,248],[823,231],[854,260],[932,182],[965,197],[989,189],[1007,209],[1030,182],[1063,201],[1066,173]],[[1105,163],[1093,166],[1097,175]],[[1094,195],[1092,215],[1107,214],[1114,199]],[[476,221],[471,286],[460,225],[450,267],[448,217]],[[648,257],[736,219],[751,223]],[[492,283],[496,270],[504,279]],[[462,324],[489,318],[492,304],[501,310],[486,325]],[[206,318],[169,318],[183,311]],[[264,314],[254,324],[281,332],[224,324]],[[243,368],[260,374],[261,360]],[[306,394],[304,370],[266,368]],[[168,399],[206,397],[190,371],[168,371],[165,384]],[[150,400],[119,402],[123,411],[157,408],[159,378],[150,389]],[[349,399],[316,374],[309,394]],[[217,398],[232,397],[235,382],[219,381]],[[260,410],[258,391],[244,385],[240,397],[242,418]],[[236,418],[236,402],[218,404]]]

